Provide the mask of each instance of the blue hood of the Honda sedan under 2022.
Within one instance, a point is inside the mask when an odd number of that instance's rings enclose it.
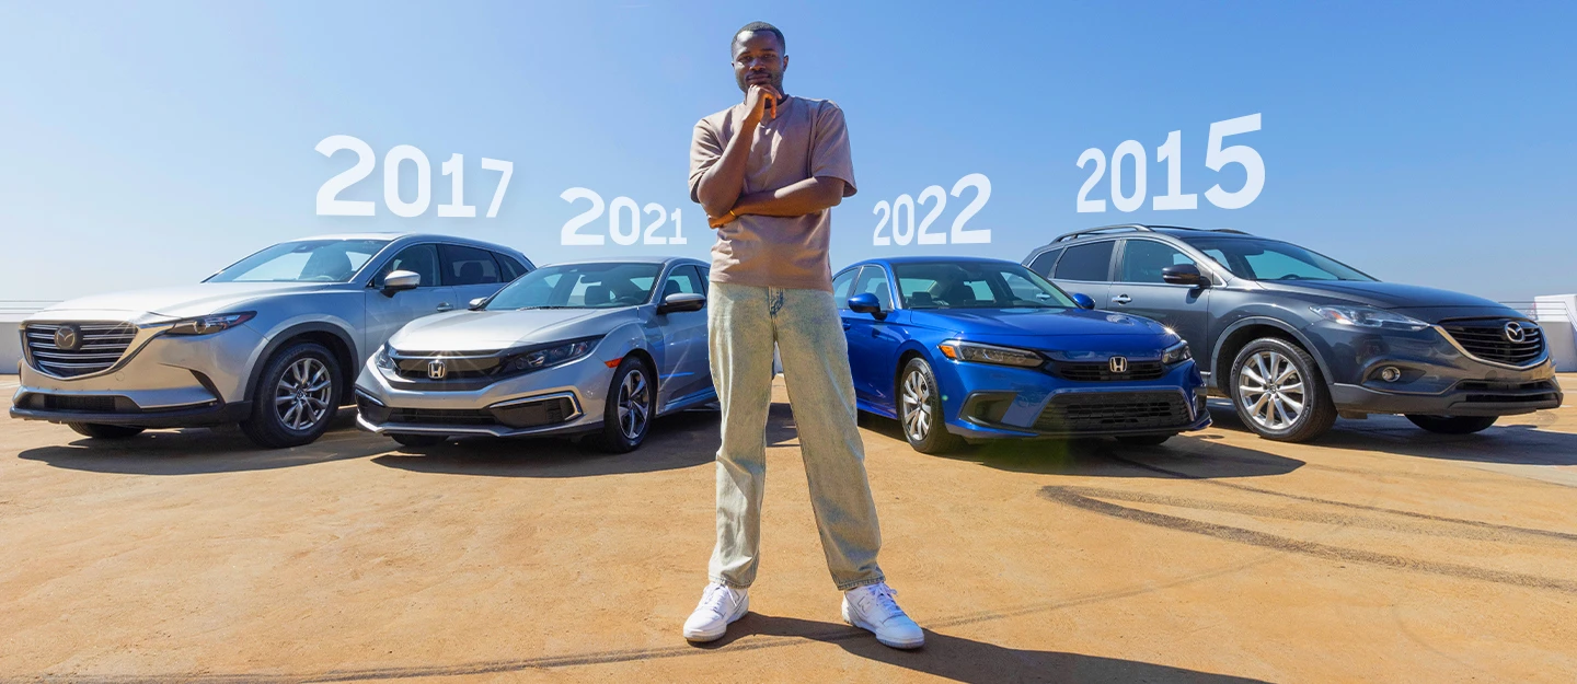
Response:
[[[1085,309],[946,309],[912,312],[916,325],[964,336],[1145,336],[1165,334],[1150,318]]]

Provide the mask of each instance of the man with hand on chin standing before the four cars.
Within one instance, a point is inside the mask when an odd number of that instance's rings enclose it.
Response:
[[[855,194],[844,112],[784,93],[788,55],[771,24],[735,32],[732,54],[744,101],[700,120],[691,142],[691,199],[718,229],[706,307],[722,448],[711,583],[684,621],[684,638],[721,638],[749,610],[776,342],[844,619],[888,646],[918,648],[926,637],[877,566],[882,530],[826,260],[830,210]]]

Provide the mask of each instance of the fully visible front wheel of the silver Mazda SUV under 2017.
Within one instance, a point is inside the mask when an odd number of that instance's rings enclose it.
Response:
[[[252,414],[241,432],[257,446],[284,449],[311,444],[334,421],[344,397],[339,361],[317,342],[274,353],[252,389]]]

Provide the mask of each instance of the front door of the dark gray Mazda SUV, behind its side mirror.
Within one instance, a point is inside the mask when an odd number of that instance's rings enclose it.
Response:
[[[1112,282],[1107,309],[1154,318],[1176,331],[1194,350],[1203,350],[1210,320],[1210,288],[1172,285],[1161,279],[1161,270],[1194,265],[1210,274],[1189,255],[1159,240],[1123,240],[1117,257],[1117,281]]]

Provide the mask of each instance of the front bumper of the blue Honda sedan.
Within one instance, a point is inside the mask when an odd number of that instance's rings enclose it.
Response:
[[[1143,381],[1074,381],[1038,369],[934,366],[948,432],[968,440],[1175,435],[1210,427],[1192,361]]]

